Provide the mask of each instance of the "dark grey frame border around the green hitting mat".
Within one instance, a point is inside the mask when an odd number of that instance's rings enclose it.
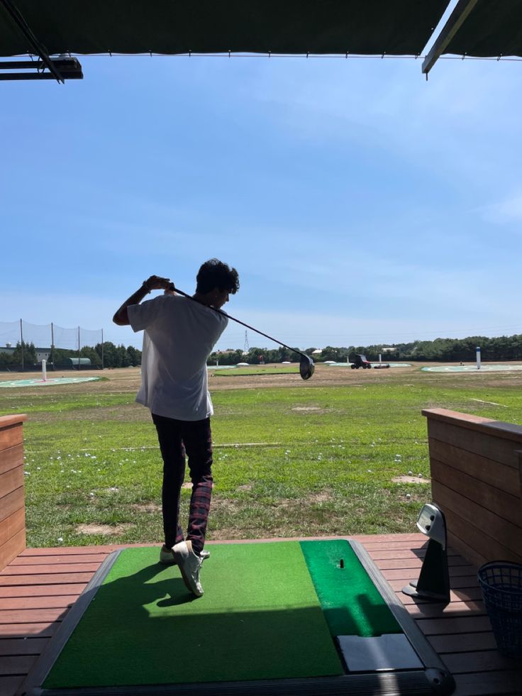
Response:
[[[409,696],[428,696],[430,694],[451,694],[455,690],[455,680],[449,673],[443,661],[432,648],[421,629],[388,582],[382,576],[379,568],[373,562],[370,554],[359,541],[349,537],[337,537],[348,541],[355,555],[360,560],[375,587],[379,590],[391,613],[401,626],[404,635],[413,646],[424,665],[423,670],[391,670],[373,673],[348,673],[340,677],[318,677],[306,679],[279,679],[244,682],[196,683],[181,685],[150,685],[150,686],[118,686],[118,687],[74,687],[72,689],[43,689],[42,684],[60,655],[72,632],[82,618],[91,600],[109,574],[114,563],[123,549],[113,551],[91,581],[74,602],[59,629],[50,640],[48,647],[40,655],[33,669],[21,685],[16,696],[277,696],[277,694],[295,694],[296,696],[342,696],[367,695],[373,696],[396,695],[397,688],[401,694]],[[245,540],[246,541],[246,540]],[[274,543],[281,539],[248,540],[247,543]],[[321,541],[321,539],[296,538],[287,541]],[[328,541],[328,538],[325,538]],[[221,543],[226,543],[223,541]]]

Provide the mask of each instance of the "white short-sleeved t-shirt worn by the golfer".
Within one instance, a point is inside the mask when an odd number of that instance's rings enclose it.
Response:
[[[211,416],[206,360],[226,316],[181,295],[160,295],[127,311],[133,331],[145,330],[138,404],[181,421]]]

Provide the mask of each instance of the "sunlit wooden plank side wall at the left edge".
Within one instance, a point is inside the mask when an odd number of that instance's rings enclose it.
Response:
[[[23,421],[0,416],[0,570],[26,548]]]

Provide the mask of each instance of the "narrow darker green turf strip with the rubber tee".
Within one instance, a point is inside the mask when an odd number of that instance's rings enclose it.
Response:
[[[402,632],[348,541],[301,541],[301,549],[332,636]]]

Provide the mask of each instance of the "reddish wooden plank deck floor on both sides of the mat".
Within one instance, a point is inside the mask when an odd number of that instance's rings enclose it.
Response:
[[[416,603],[401,593],[421,568],[421,534],[355,536],[454,675],[455,696],[522,695],[522,660],[501,656],[477,575],[449,556],[451,602]],[[13,696],[108,553],[120,546],[28,548],[0,572],[0,696]],[[210,547],[207,547],[210,548]]]

